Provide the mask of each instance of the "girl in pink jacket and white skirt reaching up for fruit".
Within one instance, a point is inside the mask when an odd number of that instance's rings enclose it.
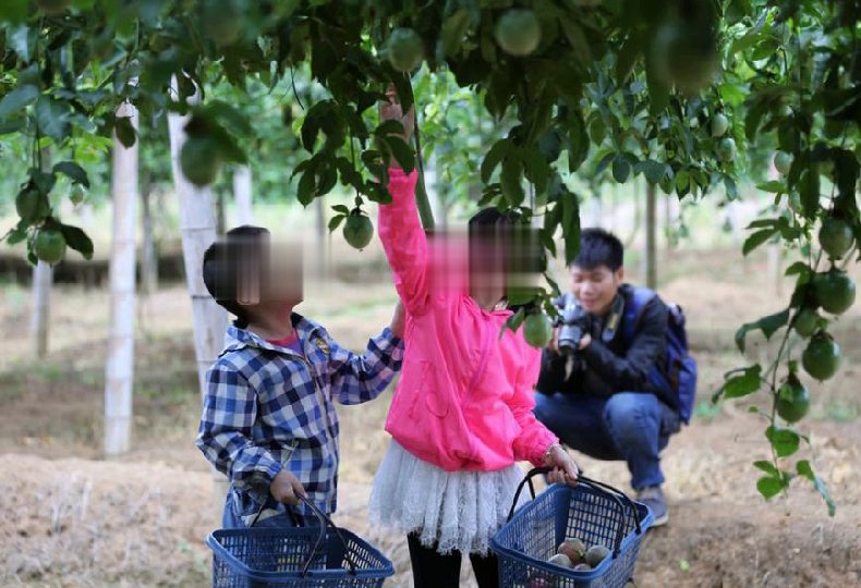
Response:
[[[383,117],[399,120],[409,139],[412,111],[402,115],[390,103]],[[425,237],[415,181],[415,172],[392,167],[392,203],[379,207],[379,237],[407,329],[386,420],[392,441],[374,478],[371,518],[408,535],[415,588],[457,587],[463,553],[478,586],[495,588],[489,539],[522,479],[517,462],[555,467],[554,481],[573,482],[578,470],[532,414],[541,351],[521,333],[502,331],[511,311],[493,235],[505,234],[507,217],[483,210],[470,221],[466,248],[444,249]]]

